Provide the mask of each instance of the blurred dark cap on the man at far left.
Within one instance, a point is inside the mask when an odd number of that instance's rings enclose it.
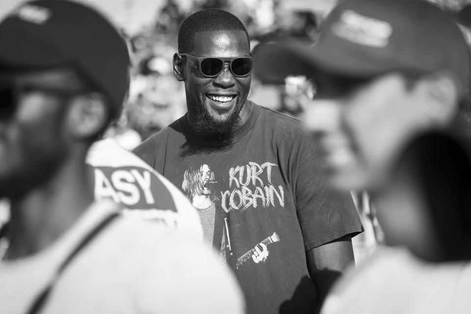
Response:
[[[113,116],[129,85],[130,57],[118,30],[95,10],[67,0],[21,4],[0,22],[0,67],[70,66],[102,92]]]

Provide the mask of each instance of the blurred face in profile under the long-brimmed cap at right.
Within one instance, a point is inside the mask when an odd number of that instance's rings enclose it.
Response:
[[[381,183],[400,146],[426,123],[420,93],[388,74],[368,81],[322,75],[307,125],[329,182],[337,189]]]

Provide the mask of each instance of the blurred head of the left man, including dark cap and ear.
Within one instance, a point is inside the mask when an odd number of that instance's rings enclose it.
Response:
[[[121,110],[129,56],[105,18],[69,1],[21,5],[1,21],[0,43],[0,191],[15,198],[83,162]]]

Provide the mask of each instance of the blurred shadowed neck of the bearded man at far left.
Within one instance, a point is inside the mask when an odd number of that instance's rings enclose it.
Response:
[[[93,202],[81,163],[62,167],[48,183],[11,200],[8,259],[37,253],[72,226]]]

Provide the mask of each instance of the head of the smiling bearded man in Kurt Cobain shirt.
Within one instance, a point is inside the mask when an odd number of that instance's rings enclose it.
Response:
[[[216,137],[233,134],[241,126],[240,112],[252,80],[247,30],[226,11],[202,10],[183,22],[178,45],[174,73],[185,83],[187,117],[194,131]],[[200,62],[200,57],[234,59]]]

